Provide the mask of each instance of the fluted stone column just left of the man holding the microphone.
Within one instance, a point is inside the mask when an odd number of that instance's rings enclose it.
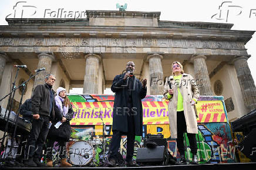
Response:
[[[89,54],[85,56],[85,79],[83,81],[84,94],[97,94],[99,88],[99,62],[100,56]]]

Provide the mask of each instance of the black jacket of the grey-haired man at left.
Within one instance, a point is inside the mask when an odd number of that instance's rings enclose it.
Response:
[[[53,94],[55,92],[48,86],[48,84],[39,84],[35,87],[33,91],[31,102],[32,102],[32,114],[39,114],[39,115],[47,115],[50,117],[50,120],[54,120],[55,118],[55,100],[53,97],[52,103],[52,110],[50,110],[50,91]]]

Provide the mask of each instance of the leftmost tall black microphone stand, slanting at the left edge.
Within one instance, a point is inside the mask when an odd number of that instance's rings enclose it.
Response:
[[[15,91],[17,89],[16,86],[15,86],[15,83],[16,83],[16,79],[17,79],[17,76],[18,76],[18,72],[19,72],[19,67],[18,67],[18,69],[16,71],[14,83],[12,83],[12,90],[11,90],[11,92],[9,94],[7,94],[5,97],[1,98],[1,100],[0,100],[0,101],[2,101],[2,100],[4,100],[4,98],[9,96],[8,105],[7,105],[8,107],[6,108],[6,111],[5,111],[4,120],[6,118],[7,111],[9,111],[9,112],[8,112],[8,116],[7,116],[7,120],[6,120],[6,126],[5,126],[4,135],[3,135],[3,138],[2,138],[2,142],[1,142],[0,153],[2,153],[2,151],[4,151],[4,141],[5,141],[5,137],[6,137],[6,132],[8,131],[8,123],[9,123],[9,118],[10,118],[10,115],[11,115],[11,108],[12,108],[12,103],[13,103],[13,100],[14,100]],[[14,93],[14,94],[12,94],[12,93]],[[6,140],[6,144],[8,144],[8,140]],[[6,145],[6,148],[7,148],[7,145]],[[5,160],[5,152],[4,152],[4,158],[2,158],[2,155],[1,155],[0,159],[4,159]],[[0,161],[0,162],[2,162],[2,161]]]

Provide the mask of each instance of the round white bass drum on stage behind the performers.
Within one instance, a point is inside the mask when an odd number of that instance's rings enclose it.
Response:
[[[89,142],[76,141],[69,147],[69,160],[73,165],[90,164],[94,156],[94,149]]]

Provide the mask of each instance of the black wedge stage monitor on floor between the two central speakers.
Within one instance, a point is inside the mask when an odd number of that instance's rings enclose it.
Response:
[[[160,146],[153,149],[138,148],[136,162],[144,164],[166,164],[166,147]]]

